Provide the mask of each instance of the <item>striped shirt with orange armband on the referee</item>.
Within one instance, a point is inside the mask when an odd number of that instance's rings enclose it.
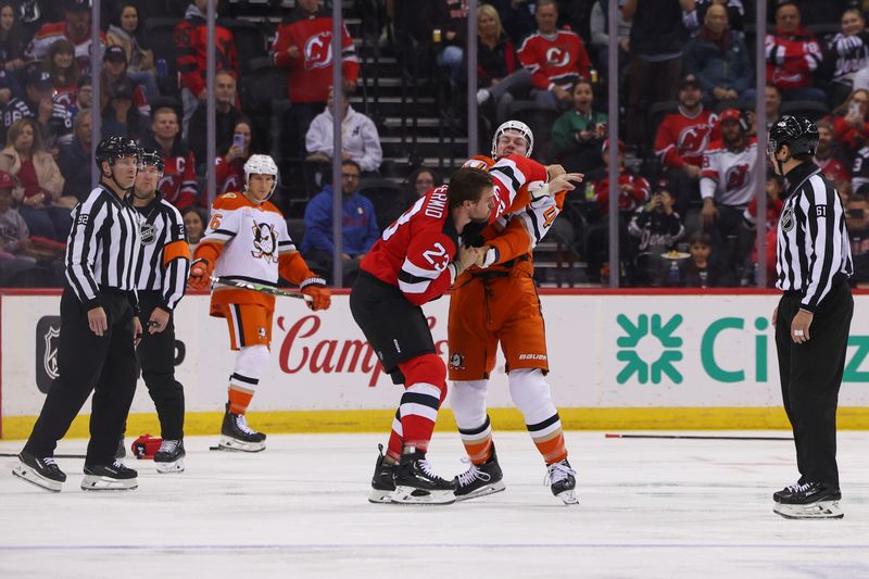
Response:
[[[184,298],[190,274],[190,246],[184,219],[159,192],[150,204],[136,210],[141,219],[142,241],[136,266],[136,289],[160,291],[162,306],[171,312]]]

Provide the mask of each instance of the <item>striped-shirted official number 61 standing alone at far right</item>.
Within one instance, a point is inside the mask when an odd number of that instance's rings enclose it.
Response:
[[[835,462],[835,413],[854,300],[854,267],[844,210],[835,187],[811,158],[818,128],[783,116],[769,129],[768,155],[784,176],[779,218],[778,278],[784,294],[772,314],[784,411],[796,443],[796,483],[776,492],[785,518],[842,518]]]

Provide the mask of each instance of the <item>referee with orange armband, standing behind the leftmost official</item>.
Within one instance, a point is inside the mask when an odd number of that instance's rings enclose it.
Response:
[[[139,320],[144,328],[137,350],[142,379],[154,401],[163,442],[154,455],[158,473],[184,471],[184,387],[175,379],[173,312],[184,298],[190,274],[190,246],[184,218],[162,199],[156,186],[163,158],[142,151],[133,188],[133,205],[141,219],[142,244],[136,267]]]

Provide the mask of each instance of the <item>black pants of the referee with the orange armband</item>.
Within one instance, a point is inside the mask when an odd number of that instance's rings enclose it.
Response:
[[[148,331],[148,320],[151,319],[154,307],[162,302],[159,291],[139,292],[142,341],[137,353],[142,379],[160,418],[161,436],[165,440],[181,440],[184,387],[175,379],[175,316],[169,315],[169,322],[163,331],[158,333]]]

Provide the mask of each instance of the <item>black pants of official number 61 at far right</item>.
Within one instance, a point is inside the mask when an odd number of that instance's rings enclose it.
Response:
[[[837,489],[835,412],[854,299],[845,281],[834,281],[815,312],[809,341],[797,344],[791,338],[791,322],[801,300],[798,292],[788,292],[779,301],[776,348],[781,394],[794,432],[799,482],[823,482]]]

